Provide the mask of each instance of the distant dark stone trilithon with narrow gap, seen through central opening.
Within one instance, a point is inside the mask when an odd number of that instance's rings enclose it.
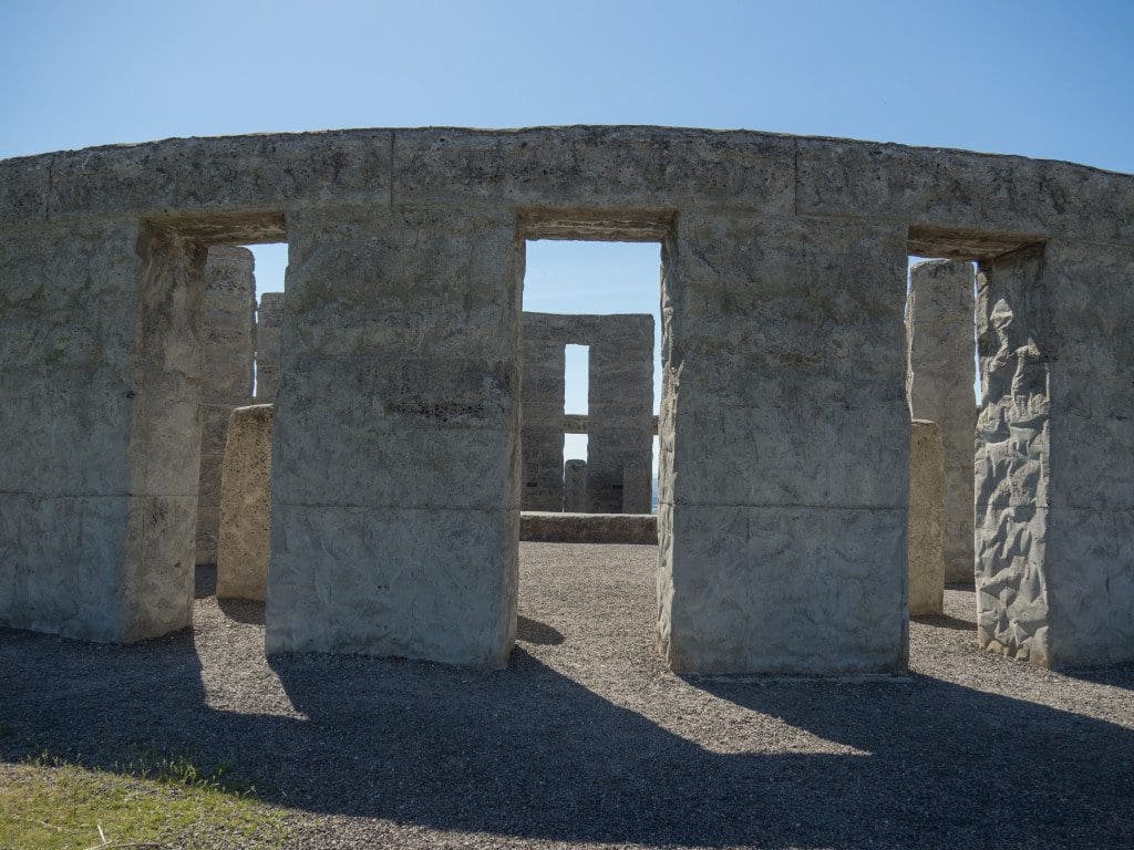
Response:
[[[564,503],[564,346],[590,347],[585,510],[649,513],[637,478],[653,431],[653,316],[524,313],[524,510]],[[633,474],[632,474],[633,475]],[[649,473],[646,473],[649,476]]]

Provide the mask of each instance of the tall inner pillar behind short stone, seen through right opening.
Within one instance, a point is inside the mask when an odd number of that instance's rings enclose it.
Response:
[[[909,273],[906,386],[915,419],[936,422],[945,444],[947,581],[973,580],[973,265],[919,263]]]

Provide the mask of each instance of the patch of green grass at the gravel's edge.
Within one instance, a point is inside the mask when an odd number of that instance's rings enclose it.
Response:
[[[286,813],[252,793],[230,766],[205,772],[184,756],[136,759],[111,772],[44,755],[0,765],[0,848],[161,847],[192,843],[201,833],[217,843],[276,845]]]

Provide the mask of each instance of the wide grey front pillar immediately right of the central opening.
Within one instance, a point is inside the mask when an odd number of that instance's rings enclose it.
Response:
[[[904,670],[906,228],[683,212],[663,256],[660,651]]]

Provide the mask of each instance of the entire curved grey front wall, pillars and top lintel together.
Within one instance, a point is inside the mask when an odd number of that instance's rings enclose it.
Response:
[[[524,241],[633,239],[663,246],[675,669],[905,666],[911,253],[981,266],[982,645],[1132,658],[1132,211],[1134,177],[1068,163],[655,127],[0,162],[0,623],[137,640],[188,622],[206,249],[286,238],[268,648],[506,663]],[[643,338],[592,343],[592,439],[626,415],[602,375]],[[623,510],[603,444],[589,509]]]

